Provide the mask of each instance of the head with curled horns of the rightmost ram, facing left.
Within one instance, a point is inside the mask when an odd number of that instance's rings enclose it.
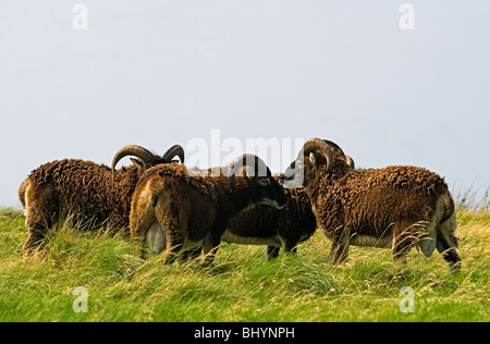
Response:
[[[282,182],[286,188],[306,186],[308,175],[319,173],[342,176],[354,168],[354,160],[345,156],[336,144],[327,139],[311,138],[305,143],[296,160],[286,169]]]

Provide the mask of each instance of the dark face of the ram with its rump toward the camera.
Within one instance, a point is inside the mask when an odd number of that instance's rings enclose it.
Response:
[[[253,181],[250,201],[254,205],[268,205],[282,209],[287,202],[283,187],[270,173],[267,176],[257,176]]]

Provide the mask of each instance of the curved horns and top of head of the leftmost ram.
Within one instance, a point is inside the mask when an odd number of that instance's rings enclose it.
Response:
[[[179,157],[181,163],[184,163],[184,149],[180,145],[172,146],[163,156],[158,156],[150,152],[148,149],[137,146],[137,145],[128,145],[121,148],[112,159],[112,173],[114,173],[115,165],[118,162],[127,156],[133,156],[135,158],[131,158],[133,164],[139,169],[140,174],[143,174],[147,169],[152,168],[157,164],[161,163],[171,163],[177,162],[177,160],[173,160],[173,158]]]

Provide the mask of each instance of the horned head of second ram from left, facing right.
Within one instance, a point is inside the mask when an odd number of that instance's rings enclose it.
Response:
[[[243,155],[230,164],[229,183],[236,188],[235,176],[245,171],[252,205],[268,205],[282,209],[287,202],[283,187],[272,177],[266,163],[255,155]]]

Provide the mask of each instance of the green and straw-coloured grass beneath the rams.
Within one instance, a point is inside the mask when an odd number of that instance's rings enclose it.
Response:
[[[390,250],[351,247],[327,262],[320,233],[295,257],[266,261],[264,247],[223,244],[215,263],[163,266],[133,255],[122,236],[61,225],[48,255],[23,261],[24,217],[0,211],[0,321],[490,321],[490,212],[458,211],[462,272],[414,249],[405,266]],[[76,228],[76,226],[75,226]],[[88,292],[75,312],[73,290]],[[414,312],[402,312],[403,286]]]

